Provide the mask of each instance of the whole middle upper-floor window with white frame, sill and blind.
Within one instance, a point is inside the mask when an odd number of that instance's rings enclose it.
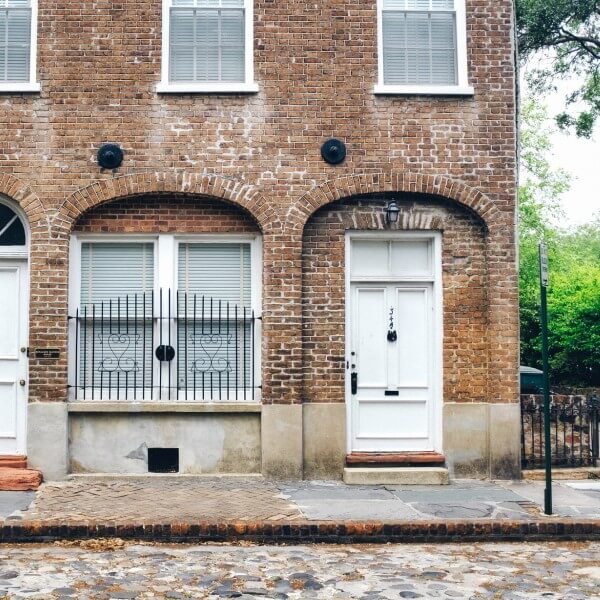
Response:
[[[250,92],[252,0],[163,0],[159,92]]]

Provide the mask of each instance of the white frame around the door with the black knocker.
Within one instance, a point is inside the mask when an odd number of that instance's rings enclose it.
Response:
[[[352,294],[351,284],[352,273],[352,252],[351,245],[356,240],[371,241],[389,241],[389,240],[425,240],[431,243],[433,249],[433,278],[424,277],[398,277],[398,278],[360,278],[358,281],[370,281],[373,283],[411,283],[411,282],[429,282],[433,285],[434,302],[434,348],[433,348],[433,414],[432,439],[434,450],[443,453],[442,440],[442,411],[443,411],[443,329],[444,329],[444,311],[443,311],[443,293],[442,293],[442,234],[437,231],[347,231],[345,239],[345,335],[346,335],[346,377],[345,377],[345,399],[346,399],[346,451],[352,451],[352,402],[350,373],[352,371]],[[356,280],[354,280],[356,281]]]

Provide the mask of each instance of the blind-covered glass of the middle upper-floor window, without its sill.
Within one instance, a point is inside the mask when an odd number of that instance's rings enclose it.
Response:
[[[169,80],[243,82],[244,0],[172,0]]]

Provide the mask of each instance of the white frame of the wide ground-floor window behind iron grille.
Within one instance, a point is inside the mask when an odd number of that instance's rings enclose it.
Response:
[[[238,400],[232,398],[221,398],[218,395],[214,397],[207,397],[204,400],[197,398],[185,398],[184,394],[180,394],[180,402],[186,404],[252,404],[261,402],[261,339],[262,339],[262,236],[260,234],[182,234],[178,235],[175,233],[161,233],[161,234],[129,234],[129,233],[86,233],[78,232],[71,236],[70,241],[70,261],[69,261],[69,315],[75,315],[76,310],[81,305],[81,245],[83,243],[151,243],[154,246],[154,285],[153,291],[155,298],[158,298],[160,288],[171,288],[177,289],[179,285],[178,281],[178,257],[179,257],[179,244],[185,243],[206,243],[206,244],[224,244],[224,243],[246,243],[250,244],[250,269],[251,269],[251,281],[250,281],[250,309],[254,312],[255,326],[254,326],[254,381],[255,381],[255,397],[254,400],[248,395],[247,399],[244,400],[240,397]],[[155,314],[158,314],[158,302],[155,303]],[[155,327],[158,327],[155,325]],[[68,339],[68,381],[71,383],[75,380],[75,322],[73,319],[69,320],[69,339]],[[155,343],[158,339],[159,332],[155,330]],[[158,381],[158,369],[159,365],[156,361],[153,361],[154,369],[154,381]],[[177,372],[177,362],[173,361],[173,369]],[[163,394],[164,396],[164,394]],[[165,402],[175,403],[175,400],[159,400],[151,391],[151,395],[145,394],[145,390],[142,390],[141,394],[138,394],[136,402]],[[108,392],[103,393],[102,398],[98,397],[92,391],[92,397],[81,397],[78,396],[75,400],[75,390],[69,388],[68,400],[70,402],[89,402],[89,401],[117,401],[116,398],[111,397]],[[119,405],[132,403],[133,399],[124,400],[121,398],[118,400]]]

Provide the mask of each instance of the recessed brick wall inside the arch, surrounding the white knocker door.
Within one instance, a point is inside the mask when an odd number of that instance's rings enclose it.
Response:
[[[334,204],[315,213],[302,252],[305,402],[344,402],[345,233],[382,230],[381,202]],[[473,214],[421,197],[402,202],[394,229],[442,231],[444,400],[485,402],[485,234]]]

